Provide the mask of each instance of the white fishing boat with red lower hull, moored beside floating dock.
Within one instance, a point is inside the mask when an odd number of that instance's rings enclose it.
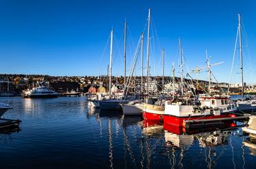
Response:
[[[198,100],[180,100],[165,103],[165,123],[184,126],[185,120],[217,119],[235,117],[235,105],[229,102],[227,95],[199,95]]]

